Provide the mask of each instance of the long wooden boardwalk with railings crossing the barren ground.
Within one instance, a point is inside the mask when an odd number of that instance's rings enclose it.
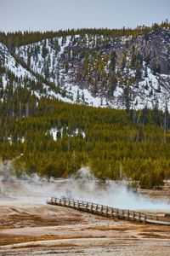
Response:
[[[47,203],[60,207],[70,207],[72,209],[77,209],[78,211],[89,212],[106,218],[120,218],[149,224],[170,225],[170,219],[158,217],[156,214],[123,210],[95,204],[89,201],[52,197]]]

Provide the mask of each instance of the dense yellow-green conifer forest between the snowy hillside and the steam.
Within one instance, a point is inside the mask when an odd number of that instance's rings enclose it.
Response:
[[[0,105],[2,160],[13,160],[18,175],[69,177],[84,165],[100,178],[119,179],[122,169],[122,178],[140,180],[146,187],[170,177],[168,113],[147,108],[127,113],[48,98],[37,105],[21,89],[14,102],[20,97],[29,100],[22,104],[27,117],[7,116],[8,102]]]

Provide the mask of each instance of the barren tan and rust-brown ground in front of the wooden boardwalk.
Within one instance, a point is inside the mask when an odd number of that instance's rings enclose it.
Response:
[[[154,198],[169,190],[141,191]],[[164,193],[165,192],[165,193]],[[108,219],[65,207],[0,203],[0,255],[170,255],[170,227]]]

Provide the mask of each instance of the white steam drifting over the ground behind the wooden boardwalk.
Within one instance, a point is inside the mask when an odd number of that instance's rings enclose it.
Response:
[[[2,171],[3,170],[3,171]],[[4,172],[5,170],[5,172]],[[0,204],[40,203],[51,197],[70,196],[75,199],[119,207],[123,209],[170,212],[170,204],[153,201],[127,189],[126,183],[99,183],[88,167],[82,167],[70,179],[42,180],[38,176],[17,178],[10,173],[10,165],[0,166]]]

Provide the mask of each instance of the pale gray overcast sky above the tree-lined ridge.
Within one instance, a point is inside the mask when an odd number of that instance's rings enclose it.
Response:
[[[0,0],[0,31],[150,26],[170,20],[170,0]]]

